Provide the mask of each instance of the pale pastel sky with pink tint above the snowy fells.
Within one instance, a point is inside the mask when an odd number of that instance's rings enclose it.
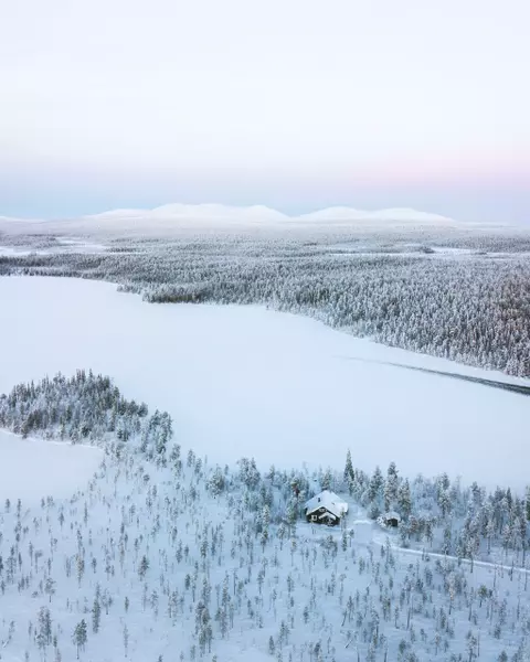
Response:
[[[0,0],[0,214],[530,222],[528,0]]]

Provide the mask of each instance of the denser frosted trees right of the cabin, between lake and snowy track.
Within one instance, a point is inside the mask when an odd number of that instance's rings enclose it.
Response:
[[[329,473],[322,472],[322,480]],[[322,484],[322,480],[320,484]],[[337,472],[336,480],[339,481]],[[379,467],[372,476],[354,469],[348,451],[342,487],[361,503],[372,519],[396,511],[402,517],[401,544],[421,543],[432,552],[467,558],[490,559],[492,549],[502,549],[505,563],[526,566],[530,506],[526,498],[513,496],[510,488],[487,493],[476,482],[464,488],[446,473],[434,479],[416,477],[412,483],[399,476],[395,462],[386,477]]]

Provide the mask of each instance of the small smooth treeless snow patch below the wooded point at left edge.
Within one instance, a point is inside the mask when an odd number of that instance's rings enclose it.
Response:
[[[104,457],[100,448],[21,439],[0,430],[0,503],[24,506],[42,498],[68,498],[88,483]]]

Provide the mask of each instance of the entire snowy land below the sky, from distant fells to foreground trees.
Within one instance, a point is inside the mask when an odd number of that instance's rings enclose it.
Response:
[[[0,233],[0,660],[530,659],[528,233]]]

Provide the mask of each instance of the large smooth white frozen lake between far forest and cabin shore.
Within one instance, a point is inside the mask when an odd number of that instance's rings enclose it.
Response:
[[[528,481],[528,398],[348,357],[454,370],[310,319],[258,307],[148,305],[104,282],[0,279],[0,392],[61,371],[112,375],[168,410],[176,438],[210,460]],[[460,366],[460,372],[495,376]]]

